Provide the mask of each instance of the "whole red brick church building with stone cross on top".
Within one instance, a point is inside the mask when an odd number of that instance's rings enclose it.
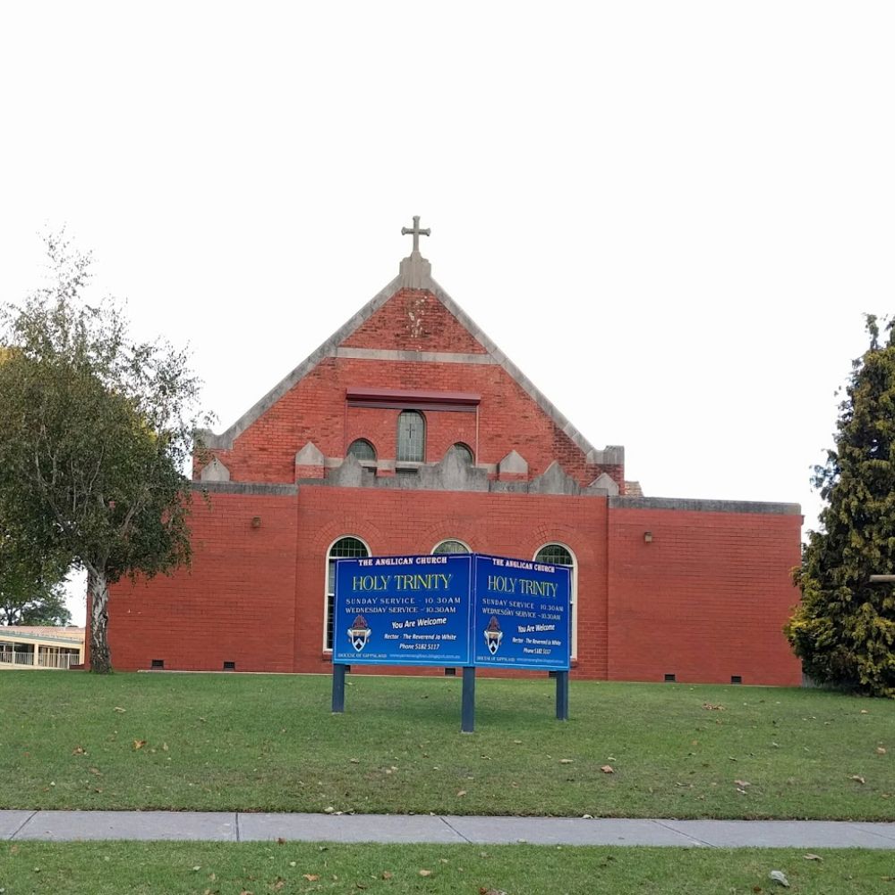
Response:
[[[573,568],[573,678],[797,685],[799,507],[644,497],[404,232],[398,276],[209,433],[192,567],[113,588],[115,667],[326,672],[334,559],[472,550]]]

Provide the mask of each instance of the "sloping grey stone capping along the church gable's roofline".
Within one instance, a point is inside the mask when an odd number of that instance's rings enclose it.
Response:
[[[428,266],[428,261],[421,259]],[[205,447],[230,450],[233,448],[234,439],[240,436],[246,429],[255,422],[262,413],[267,412],[270,407],[275,405],[277,401],[288,392],[294,385],[303,379],[320,361],[328,357],[335,357],[338,354],[338,346],[344,342],[346,338],[354,333],[354,330],[360,328],[363,323],[369,320],[376,311],[379,311],[388,300],[398,293],[401,289],[407,288],[405,280],[399,274],[393,279],[388,286],[373,296],[360,311],[354,314],[342,327],[338,328],[331,337],[327,339],[320,347],[306,357],[295,369],[288,373],[284,379],[281,379],[274,388],[268,391],[260,401],[253,405],[246,413],[236,421],[229,429],[216,435],[214,432],[204,430],[202,432],[202,440]],[[488,336],[482,331],[482,328],[461,308],[438,283],[426,273],[421,280],[420,288],[434,295],[440,303],[442,303],[449,313],[464,326],[473,338],[485,349],[493,362],[499,364],[507,374],[516,381],[516,384],[533,399],[541,410],[558,426],[560,430],[565,432],[577,447],[579,447],[586,456],[586,462],[596,465],[624,465],[625,448],[620,445],[608,445],[599,450],[584,438],[580,431],[567,420],[567,418],[558,411],[555,405],[545,396],[539,388],[537,388],[531,379],[528,379],[524,373],[519,370],[506,354],[500,351]]]

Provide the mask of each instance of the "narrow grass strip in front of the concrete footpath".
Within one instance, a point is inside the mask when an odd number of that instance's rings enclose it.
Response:
[[[805,854],[771,848],[21,842],[0,845],[0,888],[6,895],[881,895],[895,886],[891,852],[825,849],[815,853],[820,860]],[[771,870],[786,874],[791,887],[772,882]]]

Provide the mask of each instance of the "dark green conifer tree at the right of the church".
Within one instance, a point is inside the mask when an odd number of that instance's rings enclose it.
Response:
[[[805,673],[895,698],[895,323],[867,316],[870,347],[852,364],[834,449],[814,470],[827,501],[795,578],[786,633]]]

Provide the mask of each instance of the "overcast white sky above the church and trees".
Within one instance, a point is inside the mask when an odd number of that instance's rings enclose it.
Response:
[[[646,494],[811,526],[895,295],[893,46],[891,2],[3,4],[0,300],[67,225],[221,430],[419,214],[441,286]]]

